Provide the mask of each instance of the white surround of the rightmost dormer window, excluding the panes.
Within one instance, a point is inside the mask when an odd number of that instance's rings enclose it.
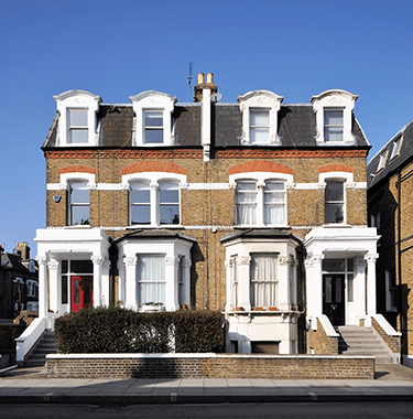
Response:
[[[357,98],[358,95],[352,95],[349,92],[340,89],[326,90],[317,96],[312,97],[311,101],[313,104],[313,110],[316,114],[317,144],[350,146],[356,142],[351,133],[351,111],[355,108],[355,101],[357,100]],[[324,138],[324,111],[328,109],[343,110],[343,141],[326,141],[326,139]]]

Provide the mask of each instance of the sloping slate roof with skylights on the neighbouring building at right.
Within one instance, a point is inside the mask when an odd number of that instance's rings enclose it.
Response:
[[[394,141],[401,140],[399,153],[391,159]],[[384,166],[378,171],[380,157],[385,154]],[[380,181],[394,174],[399,168],[413,160],[413,119],[370,160],[367,165],[367,186],[373,187]]]

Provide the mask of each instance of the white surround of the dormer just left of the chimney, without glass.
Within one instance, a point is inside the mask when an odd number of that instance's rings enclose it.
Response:
[[[133,146],[160,147],[172,146],[174,143],[172,132],[172,112],[176,96],[171,96],[165,93],[146,90],[135,96],[129,97],[133,106],[134,120],[133,120]],[[162,111],[163,119],[163,142],[162,143],[145,143],[144,142],[144,111]]]

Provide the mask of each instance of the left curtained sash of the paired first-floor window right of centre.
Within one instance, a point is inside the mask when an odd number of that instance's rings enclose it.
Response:
[[[257,223],[257,182],[237,182],[236,213],[237,224],[239,225]]]

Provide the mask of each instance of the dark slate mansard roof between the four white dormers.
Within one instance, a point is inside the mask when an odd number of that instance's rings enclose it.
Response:
[[[173,111],[174,146],[202,147],[202,104],[175,104]],[[131,148],[133,135],[133,109],[131,105],[100,104],[97,114],[99,146],[102,148]],[[50,128],[43,149],[56,147],[58,112]],[[352,146],[345,148],[370,148],[367,138],[352,115]],[[211,141],[215,148],[226,147],[270,147],[270,148],[312,148],[322,147],[316,142],[316,116],[311,104],[281,105],[278,112],[278,137],[280,143],[267,146],[246,146],[242,138],[242,114],[239,104],[211,104]],[[87,146],[90,147],[90,146]],[[142,146],[141,146],[142,147]],[[144,147],[144,146],[143,146]],[[165,146],[171,147],[171,146]],[[337,146],[336,146],[337,147]],[[341,147],[341,146],[340,146]],[[78,147],[77,147],[78,148]]]

